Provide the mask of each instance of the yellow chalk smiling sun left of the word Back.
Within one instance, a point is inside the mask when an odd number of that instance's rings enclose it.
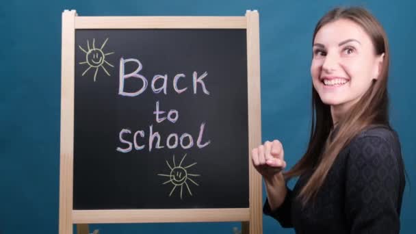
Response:
[[[85,75],[88,72],[88,70],[90,70],[91,68],[93,69],[95,68],[94,82],[96,80],[96,74],[99,72],[99,68],[103,68],[105,73],[107,73],[107,75],[109,76],[109,73],[105,69],[104,64],[107,64],[108,66],[111,66],[112,68],[114,68],[112,64],[109,64],[109,62],[105,61],[105,56],[111,55],[112,53],[114,53],[114,52],[110,52],[110,53],[103,52],[103,48],[105,46],[105,43],[107,43],[107,40],[108,38],[105,39],[103,45],[101,45],[101,48],[95,48],[95,38],[92,39],[92,48],[90,48],[90,42],[88,42],[87,40],[88,51],[83,49],[80,45],[78,45],[79,49],[81,49],[81,51],[86,53],[86,61],[80,62],[79,64],[88,64],[88,68],[82,73],[82,76]]]

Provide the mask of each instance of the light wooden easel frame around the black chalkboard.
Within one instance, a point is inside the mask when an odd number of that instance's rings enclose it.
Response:
[[[62,87],[60,141],[59,233],[72,234],[73,224],[135,222],[242,221],[243,233],[262,233],[261,176],[253,168],[250,152],[248,208],[242,209],[73,209],[73,139],[75,95],[75,29],[246,29],[248,63],[249,148],[261,144],[259,14],[246,16],[77,16],[62,13]]]

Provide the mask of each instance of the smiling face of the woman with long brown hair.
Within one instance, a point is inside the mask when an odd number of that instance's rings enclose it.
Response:
[[[339,19],[317,31],[313,41],[311,75],[323,103],[349,108],[378,78],[383,55],[356,23]]]

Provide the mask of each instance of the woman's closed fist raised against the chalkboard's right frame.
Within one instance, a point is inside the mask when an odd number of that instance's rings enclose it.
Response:
[[[251,151],[252,163],[264,179],[272,179],[286,167],[283,145],[278,140],[265,142]]]

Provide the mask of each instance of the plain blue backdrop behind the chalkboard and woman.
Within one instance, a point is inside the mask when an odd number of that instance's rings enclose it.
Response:
[[[413,90],[416,1],[1,1],[0,233],[57,233],[60,165],[61,15],[244,16],[259,10],[262,140],[283,142],[288,167],[304,153],[311,118],[311,38],[337,5],[362,5],[381,21],[391,46],[391,122],[416,181]],[[263,191],[264,194],[264,191]],[[415,233],[414,192],[406,183],[402,233]],[[233,233],[239,222],[94,224],[100,233]],[[264,233],[294,233],[264,217]]]

